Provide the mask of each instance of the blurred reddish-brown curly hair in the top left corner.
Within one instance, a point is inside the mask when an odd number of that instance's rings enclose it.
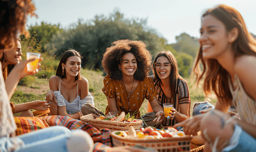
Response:
[[[26,16],[36,16],[35,10],[32,0],[0,1],[0,50],[15,48],[19,34],[28,34]]]

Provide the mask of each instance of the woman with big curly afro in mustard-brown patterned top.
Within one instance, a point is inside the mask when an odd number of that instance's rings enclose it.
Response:
[[[107,117],[120,115],[124,111],[138,118],[139,108],[146,98],[156,113],[154,122],[162,123],[163,108],[157,102],[154,82],[147,77],[151,59],[142,41],[118,40],[106,49],[102,67],[107,75],[102,91],[108,101]]]

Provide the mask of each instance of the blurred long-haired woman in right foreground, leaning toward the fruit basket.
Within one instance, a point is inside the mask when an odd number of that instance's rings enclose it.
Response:
[[[217,102],[214,110],[175,127],[193,135],[201,130],[204,151],[256,151],[256,40],[241,14],[226,5],[203,14],[200,33],[193,72],[196,83],[203,79],[205,94],[214,92]],[[231,104],[240,118],[226,114]]]

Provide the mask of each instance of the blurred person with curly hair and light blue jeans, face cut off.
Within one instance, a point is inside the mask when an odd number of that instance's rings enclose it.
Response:
[[[16,42],[20,33],[25,32],[26,16],[34,14],[35,5],[31,0],[0,0],[0,12],[0,58],[2,58],[4,51],[17,47]],[[70,131],[63,126],[48,127],[15,137],[17,126],[12,114],[15,106],[10,106],[8,92],[12,92],[10,86],[15,88],[20,79],[34,73],[26,69],[26,64],[34,60],[24,60],[14,66],[9,74],[11,81],[6,82],[7,88],[0,70],[0,151],[92,151],[93,140],[91,139],[91,146],[85,144],[90,140],[88,133],[79,129]],[[1,62],[0,68],[2,68]]]

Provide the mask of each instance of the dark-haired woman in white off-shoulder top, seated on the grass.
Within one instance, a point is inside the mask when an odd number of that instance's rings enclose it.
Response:
[[[46,101],[50,105],[50,115],[79,119],[85,115],[81,111],[84,104],[94,106],[88,80],[80,76],[80,69],[80,54],[75,50],[65,51],[56,75],[49,79],[50,90],[46,94]]]

